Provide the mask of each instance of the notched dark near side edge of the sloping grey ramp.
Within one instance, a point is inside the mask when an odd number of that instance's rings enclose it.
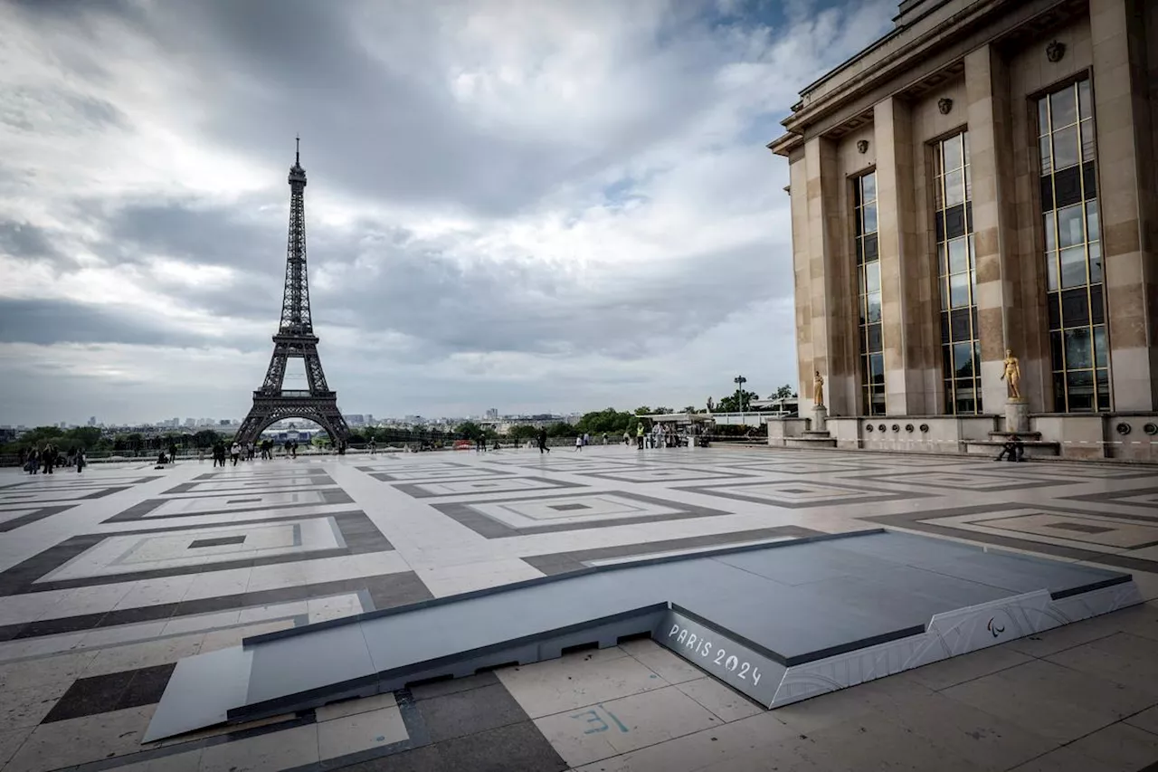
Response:
[[[632,634],[652,634],[658,620],[669,604],[657,603],[630,611],[588,619],[507,641],[459,651],[433,660],[415,662],[398,668],[368,672],[337,684],[328,684],[305,692],[232,707],[226,712],[229,722],[256,721],[286,713],[321,707],[328,702],[351,697],[371,697],[380,692],[402,689],[417,680],[449,676],[462,678],[479,670],[508,664],[532,664],[554,660],[572,646],[598,643],[599,648],[616,646],[621,638]]]

